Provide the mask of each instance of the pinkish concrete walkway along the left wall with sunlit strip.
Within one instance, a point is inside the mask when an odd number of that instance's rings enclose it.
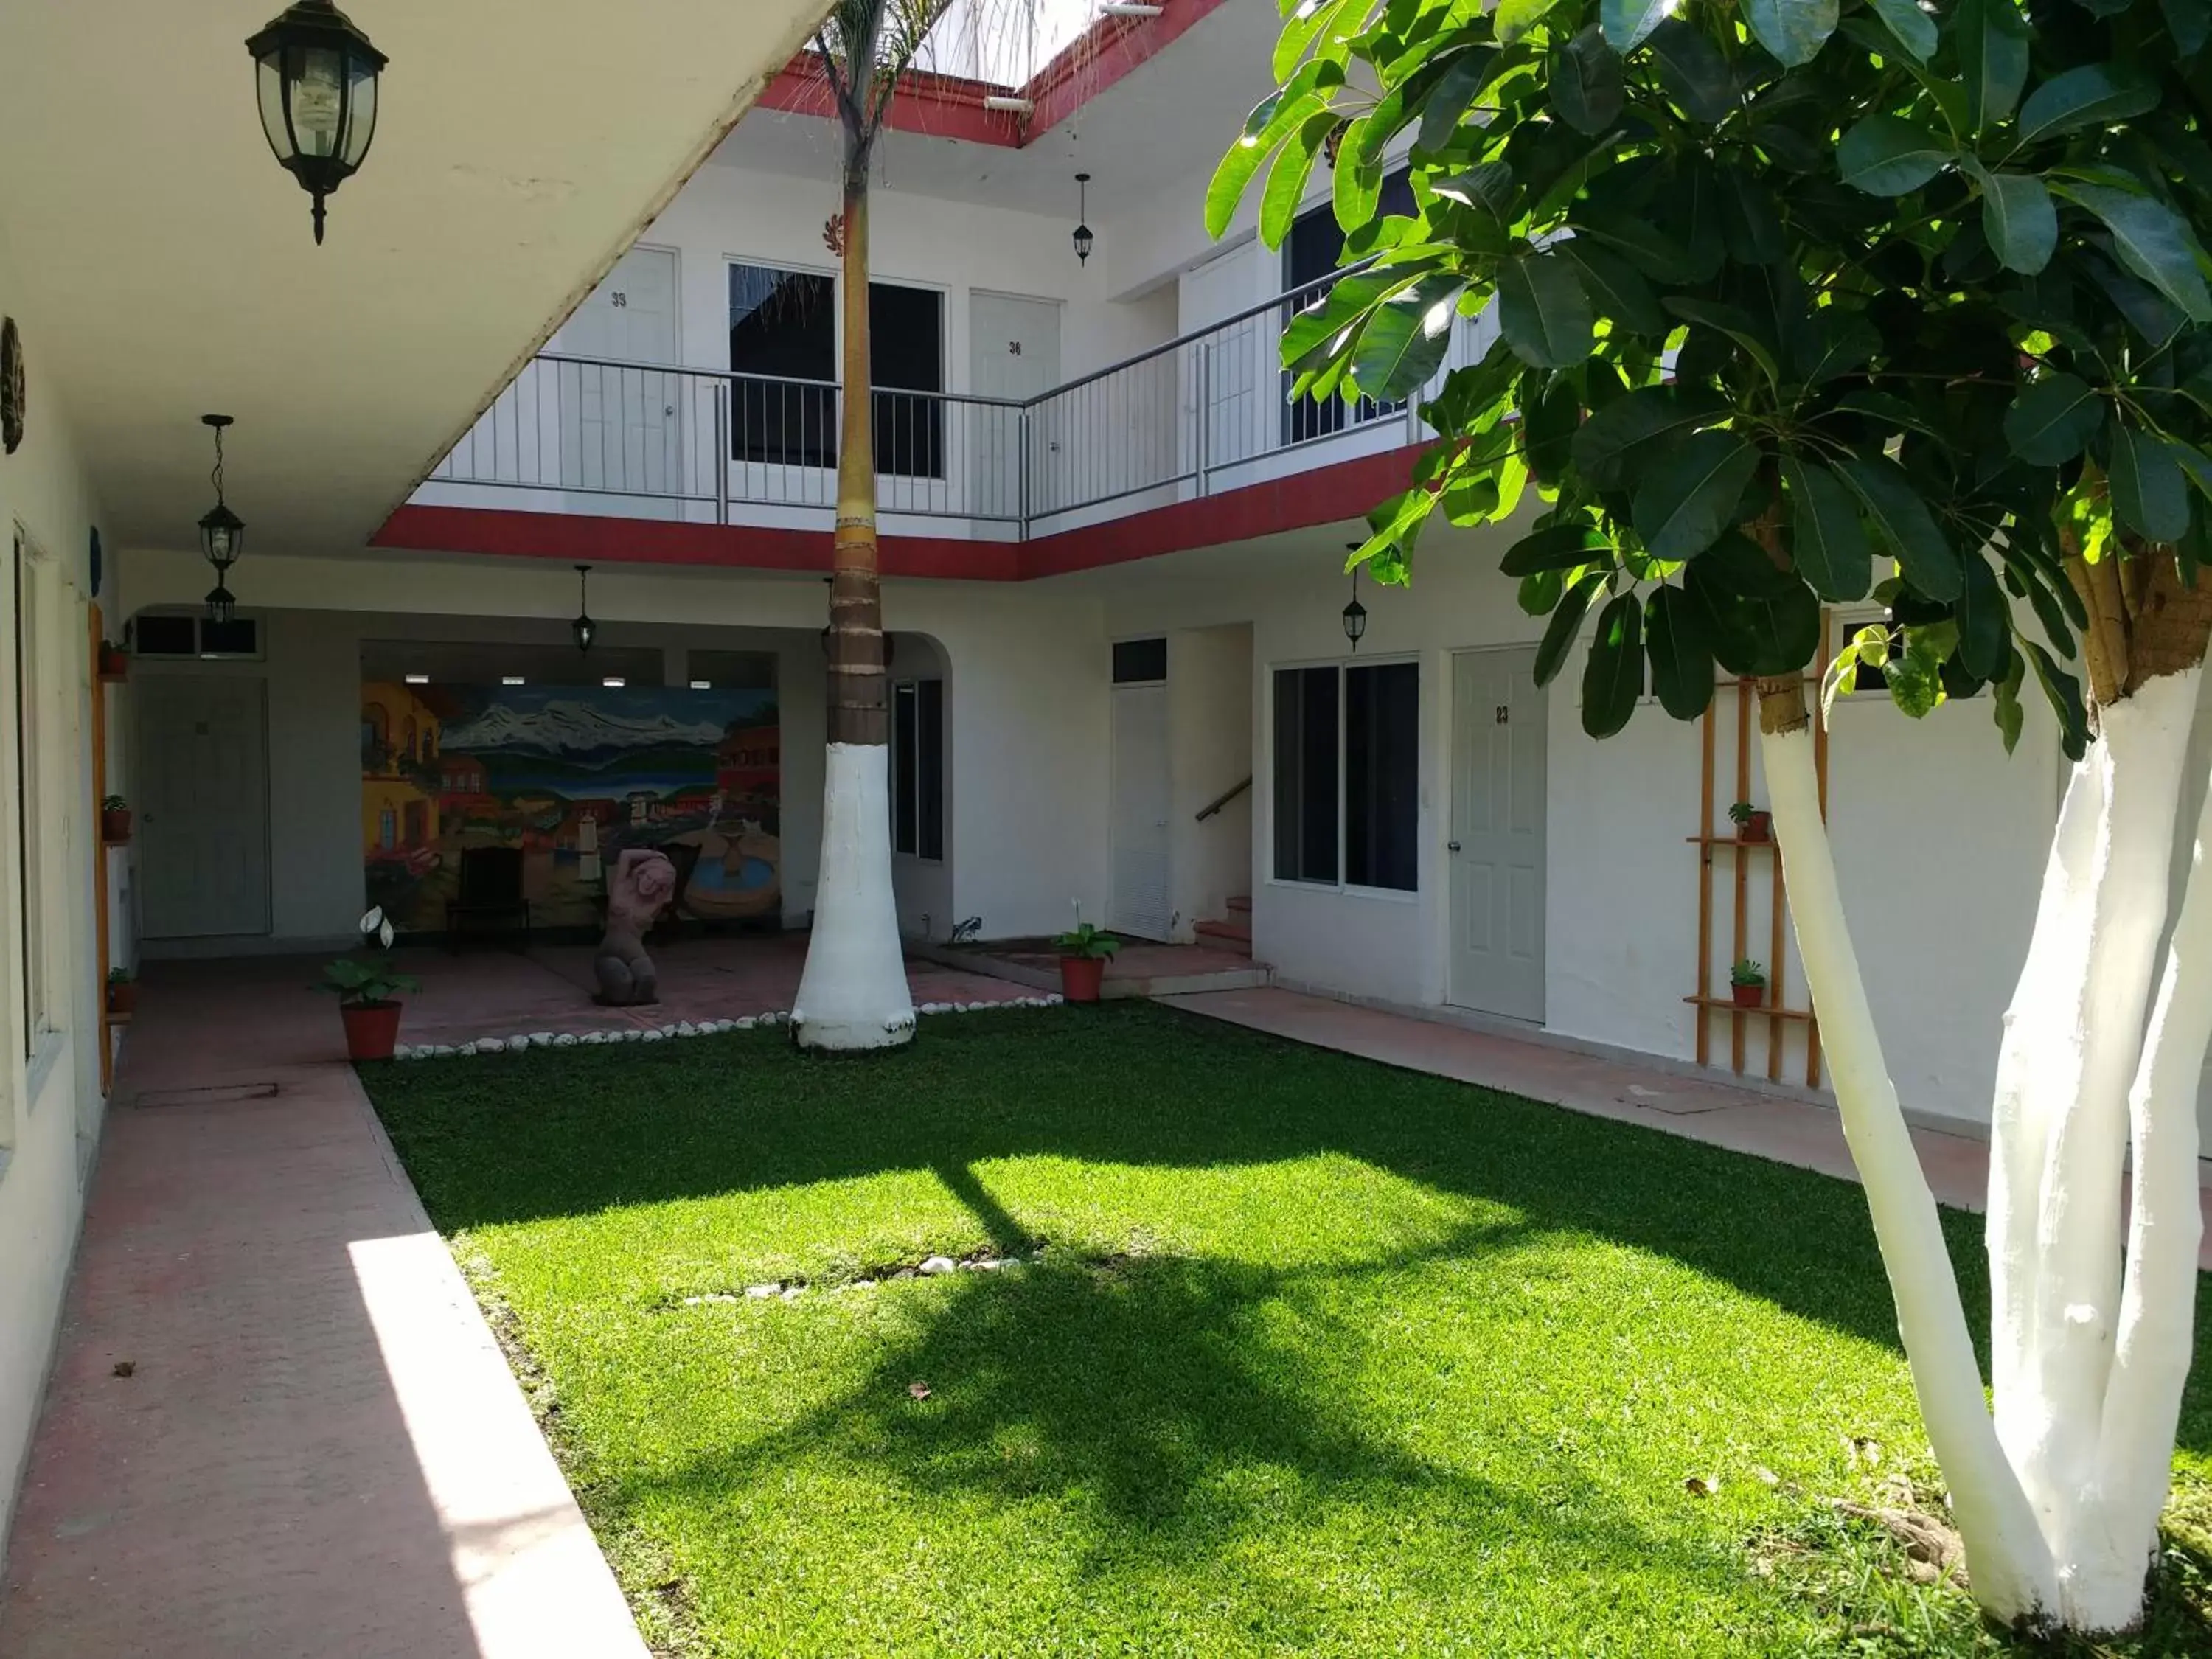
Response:
[[[148,975],[9,1659],[644,1659],[299,962]]]

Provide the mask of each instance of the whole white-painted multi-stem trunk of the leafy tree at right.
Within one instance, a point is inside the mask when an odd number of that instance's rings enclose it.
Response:
[[[2197,1079],[2212,1042],[2212,799],[2146,1037],[2199,670],[2101,714],[2075,768],[1997,1064],[1995,1416],[1843,922],[1812,739],[1765,734],[1790,911],[1975,1597],[2002,1619],[2141,1617],[2192,1352]],[[2121,1166],[2132,1217],[2121,1256]]]

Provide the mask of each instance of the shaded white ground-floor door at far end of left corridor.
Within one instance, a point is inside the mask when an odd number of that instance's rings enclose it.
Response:
[[[177,675],[137,695],[146,938],[270,931],[268,714],[259,679]]]

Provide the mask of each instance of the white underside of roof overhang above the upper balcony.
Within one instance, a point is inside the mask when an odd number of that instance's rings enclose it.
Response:
[[[1212,170],[1245,113],[1274,88],[1267,62],[1279,31],[1274,0],[1228,0],[1020,150],[889,131],[876,146],[878,188],[1073,215],[1073,175],[1084,170],[1091,221],[1108,226],[1115,212],[1146,206],[1161,181]],[[1077,86],[1104,82],[1110,69],[1110,60],[1088,64]],[[821,179],[836,173],[838,142],[836,124],[818,115],[759,108],[714,159]]]

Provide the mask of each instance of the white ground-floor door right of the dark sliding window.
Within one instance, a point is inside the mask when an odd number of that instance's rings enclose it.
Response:
[[[1544,1018],[1544,690],[1533,648],[1451,659],[1451,1000]]]

